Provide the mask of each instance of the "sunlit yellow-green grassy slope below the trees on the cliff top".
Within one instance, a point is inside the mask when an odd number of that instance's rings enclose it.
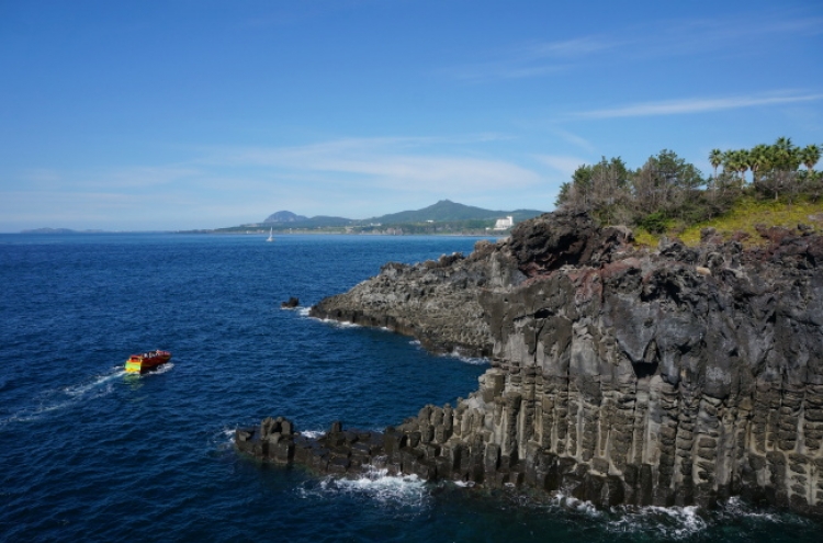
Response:
[[[821,233],[823,231],[823,201],[787,204],[785,202],[757,201],[746,197],[739,201],[728,213],[719,217],[699,223],[680,233],[667,231],[666,235],[669,238],[679,238],[686,245],[695,246],[700,242],[700,230],[712,227],[726,239],[735,231],[747,233],[749,235],[746,240],[747,245],[756,245],[762,240],[755,229],[757,224],[785,226],[787,228],[797,228],[798,224],[805,224]],[[655,247],[659,240],[659,236],[652,235],[642,228],[635,229],[634,238],[638,245],[652,247]]]

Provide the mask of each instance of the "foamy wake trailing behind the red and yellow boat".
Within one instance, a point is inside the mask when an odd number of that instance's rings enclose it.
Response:
[[[114,382],[124,375],[126,375],[126,371],[123,366],[117,365],[108,373],[95,375],[76,385],[45,391],[33,398],[32,403],[35,405],[25,406],[4,418],[0,418],[0,428],[13,422],[40,420],[50,412],[108,396],[114,391]]]

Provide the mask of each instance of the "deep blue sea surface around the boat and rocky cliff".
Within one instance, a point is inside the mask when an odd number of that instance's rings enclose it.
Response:
[[[739,500],[596,510],[373,472],[262,465],[238,426],[382,429],[474,391],[483,360],[320,321],[307,308],[387,261],[477,238],[0,235],[0,541],[823,541],[819,521]],[[296,310],[280,302],[301,301]],[[126,375],[131,353],[167,349]]]

